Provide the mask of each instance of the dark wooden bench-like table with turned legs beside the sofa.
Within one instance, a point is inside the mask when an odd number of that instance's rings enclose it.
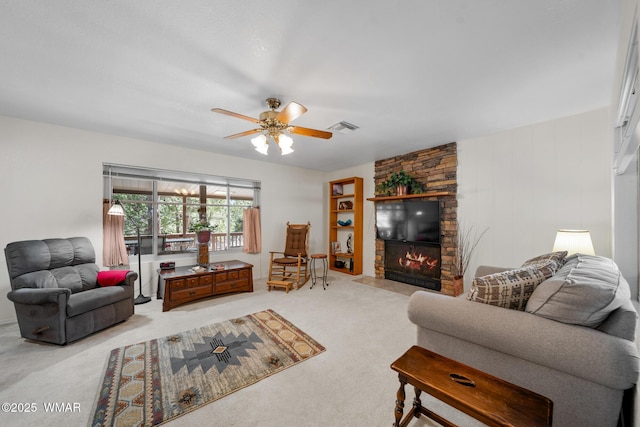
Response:
[[[455,427],[422,406],[423,391],[489,426],[551,425],[553,402],[548,398],[422,347],[411,347],[391,369],[400,380],[394,426],[406,426],[411,417],[426,415],[443,426]],[[407,383],[414,386],[415,399],[402,419]]]

